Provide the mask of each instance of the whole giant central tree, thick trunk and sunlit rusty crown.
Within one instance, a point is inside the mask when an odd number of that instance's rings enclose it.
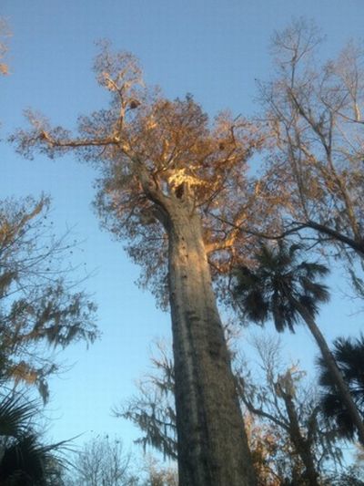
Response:
[[[111,103],[81,117],[78,136],[29,112],[31,128],[11,140],[27,156],[71,151],[94,162],[104,224],[169,297],[180,484],[255,484],[208,263],[227,272],[232,255],[244,254],[234,253],[238,232],[223,221],[251,212],[245,174],[262,135],[228,113],[210,124],[191,96],[170,101],[144,88],[130,54],[104,47],[96,75]]]

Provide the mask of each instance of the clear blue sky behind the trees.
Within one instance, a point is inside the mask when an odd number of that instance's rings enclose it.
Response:
[[[145,78],[168,97],[194,95],[208,113],[232,109],[256,111],[255,79],[269,77],[268,41],[293,16],[313,19],[334,55],[349,38],[362,36],[363,0],[0,0],[13,37],[8,63],[11,75],[1,78],[0,136],[4,140],[24,125],[22,111],[32,107],[54,124],[73,127],[79,114],[102,107],[106,95],[91,70],[95,41],[108,38],[114,47],[140,58]],[[134,284],[138,269],[98,227],[91,202],[96,173],[66,157],[50,161],[22,160],[5,141],[0,144],[0,197],[37,195],[53,198],[59,233],[75,227],[84,240],[79,260],[96,275],[86,288],[99,305],[101,341],[86,351],[73,346],[60,355],[74,363],[51,382],[49,434],[66,439],[90,430],[118,433],[126,446],[137,436],[131,425],[110,417],[110,408],[130,396],[133,381],[147,369],[153,338],[169,337],[168,315]],[[340,293],[319,318],[329,338],[358,334],[362,316]],[[344,326],[344,330],[343,330]],[[292,358],[312,361],[315,348],[302,329],[285,337]],[[84,437],[88,437],[87,434]]]

